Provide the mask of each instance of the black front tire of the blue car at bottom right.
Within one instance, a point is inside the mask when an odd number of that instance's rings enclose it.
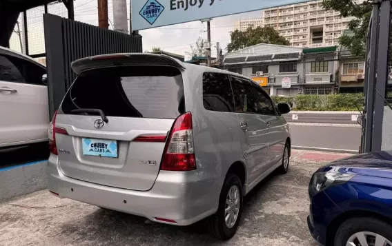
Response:
[[[339,229],[337,229],[334,245],[346,246],[348,245],[347,243],[349,242],[349,240],[350,242],[356,243],[358,240],[358,236],[362,234],[365,235],[364,238],[367,239],[368,245],[372,245],[371,243],[369,243],[369,240],[374,240],[377,235],[377,237],[382,236],[386,238],[386,240],[389,240],[388,243],[389,245],[391,245],[391,232],[392,226],[378,220],[377,218],[350,218],[349,220],[344,221],[344,223],[340,225]],[[355,234],[357,234],[357,236],[355,236]]]

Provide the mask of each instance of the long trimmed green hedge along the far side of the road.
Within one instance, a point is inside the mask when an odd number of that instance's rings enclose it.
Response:
[[[364,101],[364,94],[272,96],[275,103],[293,104],[298,111],[357,111]]]

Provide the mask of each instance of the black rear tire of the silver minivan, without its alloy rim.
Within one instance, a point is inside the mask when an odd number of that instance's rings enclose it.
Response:
[[[225,209],[226,209],[226,198],[228,198],[228,193],[231,191],[232,187],[238,188],[238,198],[239,207],[238,207],[238,215],[235,218],[235,223],[232,226],[228,226],[225,220]],[[235,188],[233,188],[235,189]],[[237,232],[237,228],[239,225],[239,221],[241,220],[242,215],[242,183],[239,180],[238,176],[235,174],[227,174],[224,185],[222,187],[221,194],[219,196],[219,207],[217,212],[208,218],[208,230],[211,236],[219,239],[219,240],[228,240],[235,235]],[[233,206],[234,207],[234,206]],[[235,209],[233,209],[235,210]],[[232,210],[232,211],[233,211]],[[231,223],[229,223],[231,224]]]

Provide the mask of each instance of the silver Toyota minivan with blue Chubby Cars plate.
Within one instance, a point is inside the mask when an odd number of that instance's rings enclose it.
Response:
[[[242,197],[288,171],[291,135],[255,82],[157,54],[72,63],[77,79],[49,129],[49,190],[170,225],[203,218],[231,238]]]

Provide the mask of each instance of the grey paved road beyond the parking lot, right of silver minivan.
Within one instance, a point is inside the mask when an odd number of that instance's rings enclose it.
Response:
[[[360,127],[290,125],[293,145],[358,150],[361,143]]]

